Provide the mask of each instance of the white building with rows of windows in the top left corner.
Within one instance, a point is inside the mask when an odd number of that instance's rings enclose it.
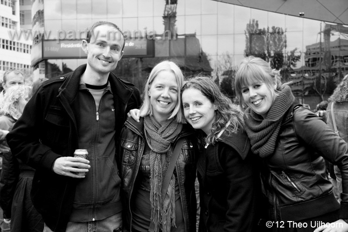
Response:
[[[20,36],[31,30],[31,0],[0,1],[0,78],[8,69],[17,69],[31,77],[30,36]],[[29,35],[30,33],[26,34]]]

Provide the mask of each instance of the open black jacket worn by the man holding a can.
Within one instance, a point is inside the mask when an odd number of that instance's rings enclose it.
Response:
[[[52,167],[57,158],[73,156],[79,149],[79,85],[86,66],[45,81],[7,135],[12,154],[36,169],[32,202],[45,224],[55,232],[66,230],[79,179],[58,175]],[[133,84],[112,73],[108,81],[114,96],[117,141],[127,112],[139,107],[140,95]],[[90,194],[88,190],[86,194]]]

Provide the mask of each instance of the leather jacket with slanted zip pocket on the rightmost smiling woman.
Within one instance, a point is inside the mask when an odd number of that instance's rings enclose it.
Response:
[[[343,171],[341,218],[348,218],[347,143],[320,117],[293,103],[285,113],[274,154],[263,160],[271,220],[299,221],[340,209],[323,157]]]

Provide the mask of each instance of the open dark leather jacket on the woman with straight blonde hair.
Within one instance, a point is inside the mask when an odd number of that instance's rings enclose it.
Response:
[[[194,182],[196,178],[196,134],[188,126],[177,136],[185,138],[181,152],[175,164],[177,180],[179,184],[182,215],[185,224],[185,232],[196,231],[196,195]],[[131,200],[135,180],[139,171],[142,155],[145,149],[144,118],[140,123],[128,118],[125,122],[121,136],[118,155],[121,158],[122,202],[123,202],[123,228],[131,232],[132,212]],[[149,199],[150,200],[150,199]]]

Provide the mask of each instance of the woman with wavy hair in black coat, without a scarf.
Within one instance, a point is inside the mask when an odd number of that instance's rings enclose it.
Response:
[[[202,138],[199,231],[255,231],[259,178],[242,112],[210,77],[192,77],[181,91],[185,119]]]

